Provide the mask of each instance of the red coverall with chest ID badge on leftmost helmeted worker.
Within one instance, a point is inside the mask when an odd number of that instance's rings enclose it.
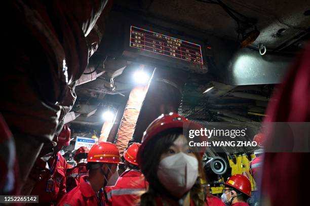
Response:
[[[56,205],[57,202],[66,194],[66,170],[67,162],[60,152],[58,152],[55,158],[48,161],[50,170],[45,170],[42,174],[42,179],[38,181],[30,195],[38,195],[38,201],[42,205]],[[43,166],[44,167],[44,166]],[[52,171],[52,172],[51,172]],[[47,182],[51,177],[53,179],[53,192],[47,192]]]

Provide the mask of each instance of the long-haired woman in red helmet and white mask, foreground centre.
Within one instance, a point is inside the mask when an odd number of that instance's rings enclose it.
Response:
[[[188,146],[183,135],[184,122],[190,123],[189,127],[202,128],[170,113],[155,119],[146,129],[137,155],[149,183],[141,195],[141,206],[210,205],[201,184],[205,182],[201,155]]]

